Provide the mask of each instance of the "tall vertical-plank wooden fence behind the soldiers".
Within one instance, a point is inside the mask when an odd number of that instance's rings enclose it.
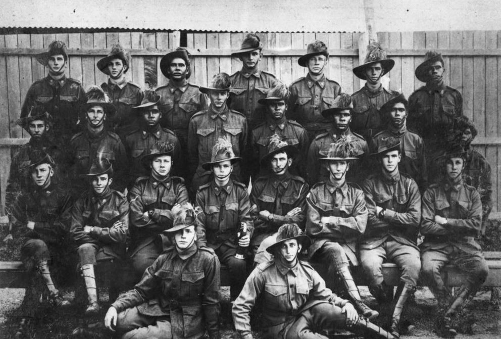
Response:
[[[167,79],[161,74],[160,58],[179,43],[179,32],[98,32],[64,34],[0,35],[0,203],[3,206],[9,173],[10,148],[26,142],[27,133],[16,125],[24,96],[37,79],[46,75],[34,55],[46,50],[55,40],[66,42],[70,52],[69,76],[81,81],[84,88],[107,80],[95,64],[120,42],[133,55],[128,77],[143,87],[160,86]],[[218,72],[229,74],[240,69],[231,58],[239,49],[244,33],[187,33],[186,44],[193,55],[191,81],[205,85]],[[265,50],[261,67],[286,83],[304,76],[306,69],[297,64],[306,45],[315,39],[324,41],[330,52],[327,76],[341,84],[344,92],[353,93],[363,82],[353,75],[359,65],[360,33],[258,33]],[[473,119],[478,136],[476,149],[492,166],[494,211],[501,211],[501,32],[439,31],[381,32],[380,43],[395,60],[389,73],[389,87],[403,90],[408,96],[423,83],[414,76],[427,50],[440,50],[445,59],[445,83],[463,94],[464,114]],[[153,80],[145,77],[145,68],[153,71]],[[147,80],[147,83],[145,81]],[[2,209],[3,210],[3,209]]]

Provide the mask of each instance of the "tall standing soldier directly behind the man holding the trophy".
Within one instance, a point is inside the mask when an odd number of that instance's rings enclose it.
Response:
[[[211,159],[211,150],[219,138],[228,139],[236,156],[244,154],[247,144],[247,121],[237,111],[230,110],[226,104],[230,90],[230,77],[226,73],[214,76],[212,87],[200,87],[202,93],[209,94],[211,106],[208,110],[196,113],[189,122],[188,157],[190,174],[193,179],[191,189],[196,192],[199,186],[208,183],[211,171],[202,164]],[[241,181],[240,166],[235,164],[232,175]]]

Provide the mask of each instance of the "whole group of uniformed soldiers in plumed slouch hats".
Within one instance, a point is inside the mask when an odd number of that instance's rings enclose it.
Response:
[[[366,84],[352,95],[324,74],[323,42],[308,45],[298,59],[308,74],[288,87],[260,69],[262,50],[248,34],[232,53],[241,70],[204,87],[188,81],[179,47],[160,62],[167,85],[142,91],[115,45],[97,62],[108,82],[84,91],[65,76],[65,44],[52,42],[37,57],[48,75],[26,94],[19,124],[31,138],[12,155],[7,187],[27,269],[67,307],[51,267],[76,266],[92,315],[95,271],[119,277],[128,263],[137,284],[110,294],[105,317],[123,338],[219,337],[221,265],[242,338],[258,306],[270,338],[397,338],[421,277],[440,334],[454,337],[455,315],[488,274],[476,239],[492,204],[489,164],[471,146],[477,132],[444,84],[441,55],[426,54],[415,72],[425,85],[407,100],[382,86],[394,61],[377,43],[353,69]],[[63,263],[70,254],[76,263]],[[383,262],[400,270],[394,295]],[[447,263],[467,276],[454,295],[440,274]],[[362,301],[355,266],[389,306],[385,329],[371,322],[379,312]]]

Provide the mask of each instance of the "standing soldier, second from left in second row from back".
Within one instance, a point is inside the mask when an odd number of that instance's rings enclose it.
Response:
[[[127,163],[125,148],[120,137],[105,127],[107,117],[116,111],[115,106],[110,103],[108,95],[100,87],[91,86],[87,92],[84,110],[87,127],[84,131],[75,134],[70,141],[69,161],[74,193],[80,194],[88,187],[84,181],[77,178],[88,173],[95,159],[98,158],[108,159],[114,168],[117,168],[117,180],[113,188],[123,191],[127,182],[124,175]]]

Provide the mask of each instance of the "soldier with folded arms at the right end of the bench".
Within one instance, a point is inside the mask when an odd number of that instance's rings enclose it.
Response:
[[[482,222],[480,195],[463,181],[467,153],[452,146],[436,159],[444,178],[430,185],[423,194],[421,234],[422,275],[437,298],[438,330],[442,336],[454,337],[455,315],[469,296],[474,296],[485,281],[489,268],[475,237]],[[466,274],[466,281],[449,295],[441,271],[452,263]]]

